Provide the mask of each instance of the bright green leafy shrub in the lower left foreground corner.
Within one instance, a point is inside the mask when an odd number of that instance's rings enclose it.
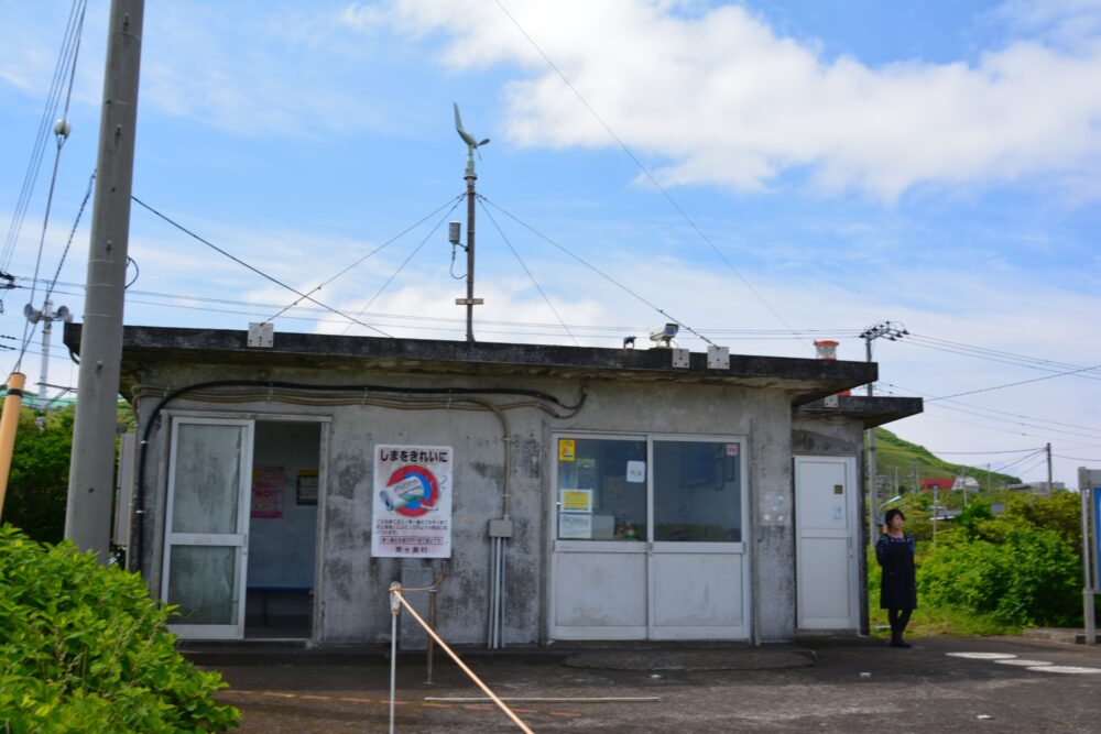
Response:
[[[239,713],[175,649],[142,580],[0,528],[0,730],[212,732]]]

